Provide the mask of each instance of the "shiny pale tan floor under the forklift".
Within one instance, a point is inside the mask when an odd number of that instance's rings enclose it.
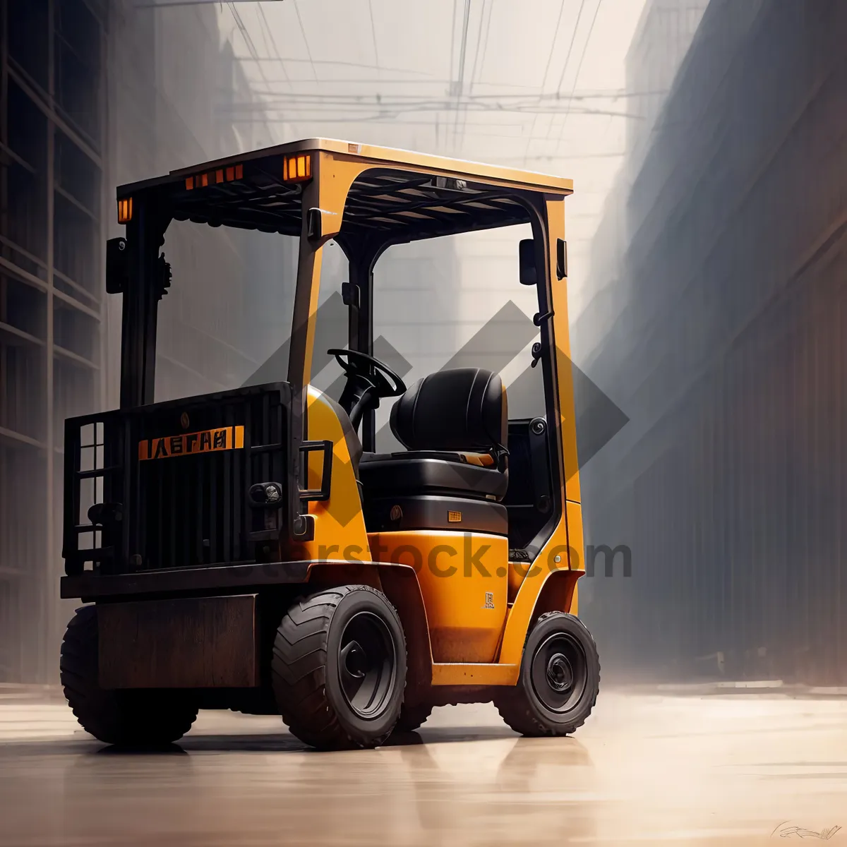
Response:
[[[3,845],[772,839],[847,844],[847,700],[606,690],[573,739],[519,739],[492,706],[453,706],[345,753],[203,712],[146,756],[103,748],[61,703],[0,703]]]

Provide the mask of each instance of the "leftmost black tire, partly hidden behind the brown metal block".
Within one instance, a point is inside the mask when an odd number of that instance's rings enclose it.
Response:
[[[179,691],[100,688],[96,606],[83,606],[71,618],[59,675],[80,726],[105,744],[163,747],[182,738],[197,719],[197,706]]]

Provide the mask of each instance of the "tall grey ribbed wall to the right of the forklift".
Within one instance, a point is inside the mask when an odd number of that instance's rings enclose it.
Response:
[[[584,595],[623,667],[847,679],[845,36],[838,0],[712,0],[598,235],[575,349],[631,422],[585,515],[633,575]]]

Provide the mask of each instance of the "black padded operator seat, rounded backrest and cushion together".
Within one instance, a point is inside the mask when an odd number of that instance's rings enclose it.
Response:
[[[391,409],[391,431],[407,451],[364,453],[359,463],[366,506],[421,495],[499,504],[509,481],[507,418],[499,374],[455,368],[418,379]]]

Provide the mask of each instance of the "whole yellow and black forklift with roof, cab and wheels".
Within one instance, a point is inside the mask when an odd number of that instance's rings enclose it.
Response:
[[[65,424],[61,677],[97,739],[165,745],[200,709],[279,714],[323,749],[380,745],[435,706],[493,700],[518,733],[572,733],[599,683],[584,573],[567,324],[571,180],[310,139],[118,190],[120,407]],[[294,235],[285,381],[154,401],[172,221]],[[499,374],[412,385],[374,357],[392,245],[529,224],[545,413]],[[310,385],[322,253],[349,261],[339,401]],[[174,280],[179,285],[179,280]],[[405,449],[376,452],[375,411]],[[83,487],[93,490],[86,504]]]

